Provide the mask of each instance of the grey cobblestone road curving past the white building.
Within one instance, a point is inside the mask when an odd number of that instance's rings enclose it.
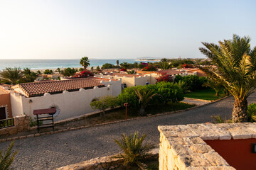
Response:
[[[233,101],[233,97],[229,97],[191,111],[17,140],[14,149],[19,152],[14,169],[54,169],[115,154],[119,149],[113,140],[122,133],[130,134],[135,130],[146,133],[146,140],[158,145],[158,125],[206,123],[212,120],[210,115],[230,118]],[[255,94],[249,98],[249,102],[252,101],[256,102]],[[7,145],[9,142],[0,143],[0,149]]]

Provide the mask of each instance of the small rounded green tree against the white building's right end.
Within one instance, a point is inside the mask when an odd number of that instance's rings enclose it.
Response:
[[[100,98],[95,98],[91,103],[90,106],[93,110],[100,109],[102,113],[100,116],[105,115],[105,110],[107,108],[114,108],[117,105],[117,99],[114,96],[104,96]]]

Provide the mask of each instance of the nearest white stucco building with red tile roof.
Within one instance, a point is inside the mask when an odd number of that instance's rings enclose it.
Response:
[[[94,98],[117,96],[121,86],[121,80],[95,77],[18,84],[11,90],[12,115],[34,117],[34,110],[56,108],[55,120],[63,120],[92,113]]]

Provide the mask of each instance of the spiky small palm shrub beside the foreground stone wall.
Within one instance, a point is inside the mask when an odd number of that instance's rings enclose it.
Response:
[[[146,164],[142,162],[151,156],[149,151],[154,148],[154,145],[149,143],[143,144],[145,137],[146,135],[139,137],[139,132],[134,132],[134,135],[127,136],[123,134],[121,140],[114,140],[124,152],[118,154],[115,158],[123,159],[124,165],[130,166],[130,169],[134,165],[139,166],[141,169],[146,169]]]

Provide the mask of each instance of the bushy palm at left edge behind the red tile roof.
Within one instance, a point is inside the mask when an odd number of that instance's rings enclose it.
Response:
[[[16,82],[23,77],[22,71],[20,67],[7,67],[4,69],[3,72],[0,74],[0,79],[4,81],[10,82],[11,84],[15,85]]]

